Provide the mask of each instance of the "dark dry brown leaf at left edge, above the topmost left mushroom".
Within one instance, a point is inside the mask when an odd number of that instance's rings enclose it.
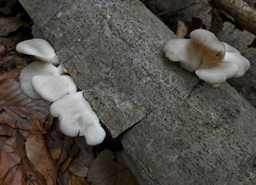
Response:
[[[19,27],[29,28],[29,25],[17,17],[0,18],[0,36],[7,36],[10,32],[16,31]]]

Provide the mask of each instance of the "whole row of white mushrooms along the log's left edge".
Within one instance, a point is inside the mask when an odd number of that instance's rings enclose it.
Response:
[[[20,89],[29,98],[53,102],[50,113],[59,117],[59,128],[67,136],[85,136],[88,145],[102,143],[106,132],[90,103],[77,92],[71,76],[66,74],[52,45],[44,39],[31,39],[16,46],[19,53],[34,55],[40,61],[21,70]]]

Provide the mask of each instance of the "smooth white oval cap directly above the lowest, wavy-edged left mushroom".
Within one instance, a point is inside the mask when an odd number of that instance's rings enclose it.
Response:
[[[55,102],[64,95],[76,93],[76,84],[69,75],[33,76],[31,84],[46,101]]]

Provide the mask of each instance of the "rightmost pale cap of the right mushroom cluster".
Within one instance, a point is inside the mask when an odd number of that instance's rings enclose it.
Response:
[[[240,53],[226,52],[225,57],[221,63],[232,63],[237,65],[238,72],[235,74],[235,78],[241,77],[251,67],[249,60],[244,58]]]

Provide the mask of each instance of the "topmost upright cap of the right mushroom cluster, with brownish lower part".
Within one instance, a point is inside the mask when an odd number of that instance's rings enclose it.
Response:
[[[202,63],[204,62],[220,62],[225,56],[225,46],[220,42],[217,37],[207,30],[197,29],[190,33],[190,38],[195,43],[202,46],[205,50],[209,51],[206,53],[213,53],[210,56],[206,55],[207,60],[204,60],[204,53],[202,55]],[[211,58],[211,60],[210,60]]]

